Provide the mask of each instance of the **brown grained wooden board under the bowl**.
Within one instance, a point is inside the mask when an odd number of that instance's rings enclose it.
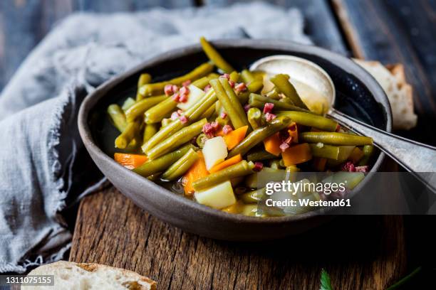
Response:
[[[182,232],[111,187],[81,203],[70,260],[130,269],[159,289],[385,289],[405,270],[398,217],[343,216],[286,240],[238,243]]]

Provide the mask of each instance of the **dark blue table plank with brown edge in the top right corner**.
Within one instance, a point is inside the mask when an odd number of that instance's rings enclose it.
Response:
[[[436,145],[436,13],[434,1],[333,0],[356,56],[403,63],[414,90],[417,127],[402,136]]]

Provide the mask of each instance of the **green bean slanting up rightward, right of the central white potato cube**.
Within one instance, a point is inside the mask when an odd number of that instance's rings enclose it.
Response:
[[[234,147],[234,149],[229,152],[228,158],[236,156],[238,154],[246,154],[246,152],[248,152],[251,148],[261,143],[261,141],[264,141],[266,137],[271,136],[272,134],[280,131],[281,129],[285,129],[289,126],[289,124],[291,124],[291,118],[282,116],[272,120],[264,127],[259,127],[255,129],[248,136],[246,136],[241,143],[239,143],[236,147]]]

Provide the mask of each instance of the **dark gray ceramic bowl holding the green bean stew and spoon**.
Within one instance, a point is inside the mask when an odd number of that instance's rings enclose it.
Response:
[[[229,63],[238,70],[267,55],[289,54],[313,61],[331,76],[336,86],[335,107],[375,127],[390,131],[392,116],[388,99],[378,83],[352,60],[315,46],[284,41],[214,41]],[[147,60],[97,88],[81,105],[78,127],[83,143],[98,168],[110,182],[140,208],[187,232],[220,240],[271,240],[304,232],[328,220],[325,215],[306,213],[294,217],[254,218],[223,213],[177,195],[133,173],[113,160],[117,132],[110,126],[105,109],[134,97],[142,72],[155,80],[180,75],[207,61],[200,45],[172,50]],[[155,81],[154,80],[154,81]],[[378,153],[371,171],[377,171],[384,158]],[[362,182],[364,183],[364,181]],[[363,186],[360,183],[359,186]]]

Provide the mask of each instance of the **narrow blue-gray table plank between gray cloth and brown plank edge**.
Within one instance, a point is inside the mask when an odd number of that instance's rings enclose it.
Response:
[[[250,0],[204,0],[207,6],[228,6],[235,3],[246,3]],[[313,43],[328,48],[336,53],[348,55],[346,45],[336,24],[333,11],[327,0],[272,0],[269,4],[286,9],[300,9],[305,21],[305,32]]]

